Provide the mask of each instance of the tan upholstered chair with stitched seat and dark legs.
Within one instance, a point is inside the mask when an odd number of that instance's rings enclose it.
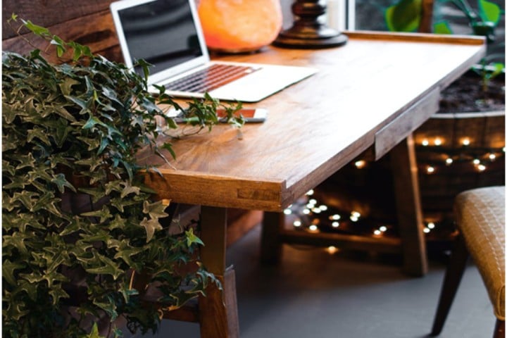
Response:
[[[468,257],[472,256],[492,301],[494,338],[505,337],[505,187],[471,189],[456,196],[458,237],[446,270],[432,336],[442,332]]]

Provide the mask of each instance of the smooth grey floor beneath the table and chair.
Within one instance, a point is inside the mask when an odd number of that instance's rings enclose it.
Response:
[[[430,332],[443,261],[430,261],[430,272],[415,278],[399,263],[286,245],[280,265],[264,266],[259,235],[256,227],[227,251],[236,270],[242,338],[422,338]],[[440,337],[492,337],[494,323],[481,277],[470,265]],[[157,334],[143,337],[197,338],[199,327],[164,320]]]

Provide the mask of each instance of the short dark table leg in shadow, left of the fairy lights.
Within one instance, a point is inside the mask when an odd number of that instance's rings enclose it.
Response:
[[[284,227],[283,213],[264,212],[261,231],[261,262],[278,263],[282,258],[280,231]]]

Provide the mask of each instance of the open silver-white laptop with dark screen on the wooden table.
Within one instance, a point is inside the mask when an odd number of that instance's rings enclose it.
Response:
[[[173,96],[202,97],[208,92],[215,99],[257,102],[316,73],[306,67],[211,61],[194,1],[111,4],[125,64],[132,67],[144,59],[154,65],[149,90],[157,92],[153,84],[159,84]],[[134,70],[142,74],[141,69]]]

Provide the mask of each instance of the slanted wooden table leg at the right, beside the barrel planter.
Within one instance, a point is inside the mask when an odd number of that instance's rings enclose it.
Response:
[[[403,270],[408,275],[423,276],[427,273],[426,243],[412,135],[392,149],[391,161]]]

